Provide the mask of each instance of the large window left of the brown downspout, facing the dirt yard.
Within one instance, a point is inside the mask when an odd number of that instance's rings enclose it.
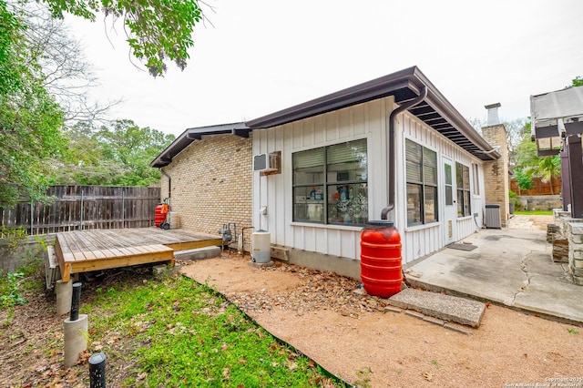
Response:
[[[292,159],[294,221],[368,222],[365,138],[296,152]]]

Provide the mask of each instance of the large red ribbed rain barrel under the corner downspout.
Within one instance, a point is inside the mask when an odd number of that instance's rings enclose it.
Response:
[[[369,221],[361,233],[361,280],[370,295],[388,298],[401,291],[401,236],[393,222]]]

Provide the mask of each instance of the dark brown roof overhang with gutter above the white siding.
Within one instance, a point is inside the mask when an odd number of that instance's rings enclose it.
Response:
[[[394,96],[397,104],[403,104],[417,97],[422,87],[427,87],[427,97],[421,104],[409,109],[415,117],[476,158],[482,160],[500,158],[500,154],[492,151],[492,146],[447,101],[417,66],[252,119],[245,124],[251,129],[272,128],[389,96]]]

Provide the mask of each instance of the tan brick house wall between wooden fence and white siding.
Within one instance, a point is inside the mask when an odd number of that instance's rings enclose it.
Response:
[[[251,161],[251,138],[235,135],[203,137],[173,158],[163,170],[179,227],[216,235],[227,222],[251,226]],[[168,185],[162,175],[162,199]]]

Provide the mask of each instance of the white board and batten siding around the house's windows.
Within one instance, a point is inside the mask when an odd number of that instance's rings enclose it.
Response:
[[[269,230],[272,244],[359,260],[361,227],[293,222],[292,154],[366,138],[369,220],[379,220],[381,210],[387,206],[387,118],[394,108],[393,101],[393,97],[385,97],[275,128],[253,130],[253,155],[281,151],[281,174],[261,177],[259,172],[253,173],[253,225],[256,230]],[[480,170],[482,165],[479,160],[472,158],[416,117],[408,113],[399,115],[395,142],[397,198],[393,219],[402,235],[404,262],[407,262],[439,250],[444,246],[444,238],[439,222],[412,229],[405,227],[405,209],[399,206],[405,203],[404,138],[411,138],[425,147],[435,149],[438,162],[445,155],[470,168],[472,162],[479,163]],[[442,200],[441,197],[439,200]],[[480,200],[473,199],[476,202],[472,203],[473,212],[477,209],[475,206],[482,206],[477,203]],[[267,206],[266,216],[259,214],[263,206]],[[472,218],[468,220],[474,222]],[[460,239],[476,230],[466,225],[468,220],[457,221],[458,234],[463,235]]]

